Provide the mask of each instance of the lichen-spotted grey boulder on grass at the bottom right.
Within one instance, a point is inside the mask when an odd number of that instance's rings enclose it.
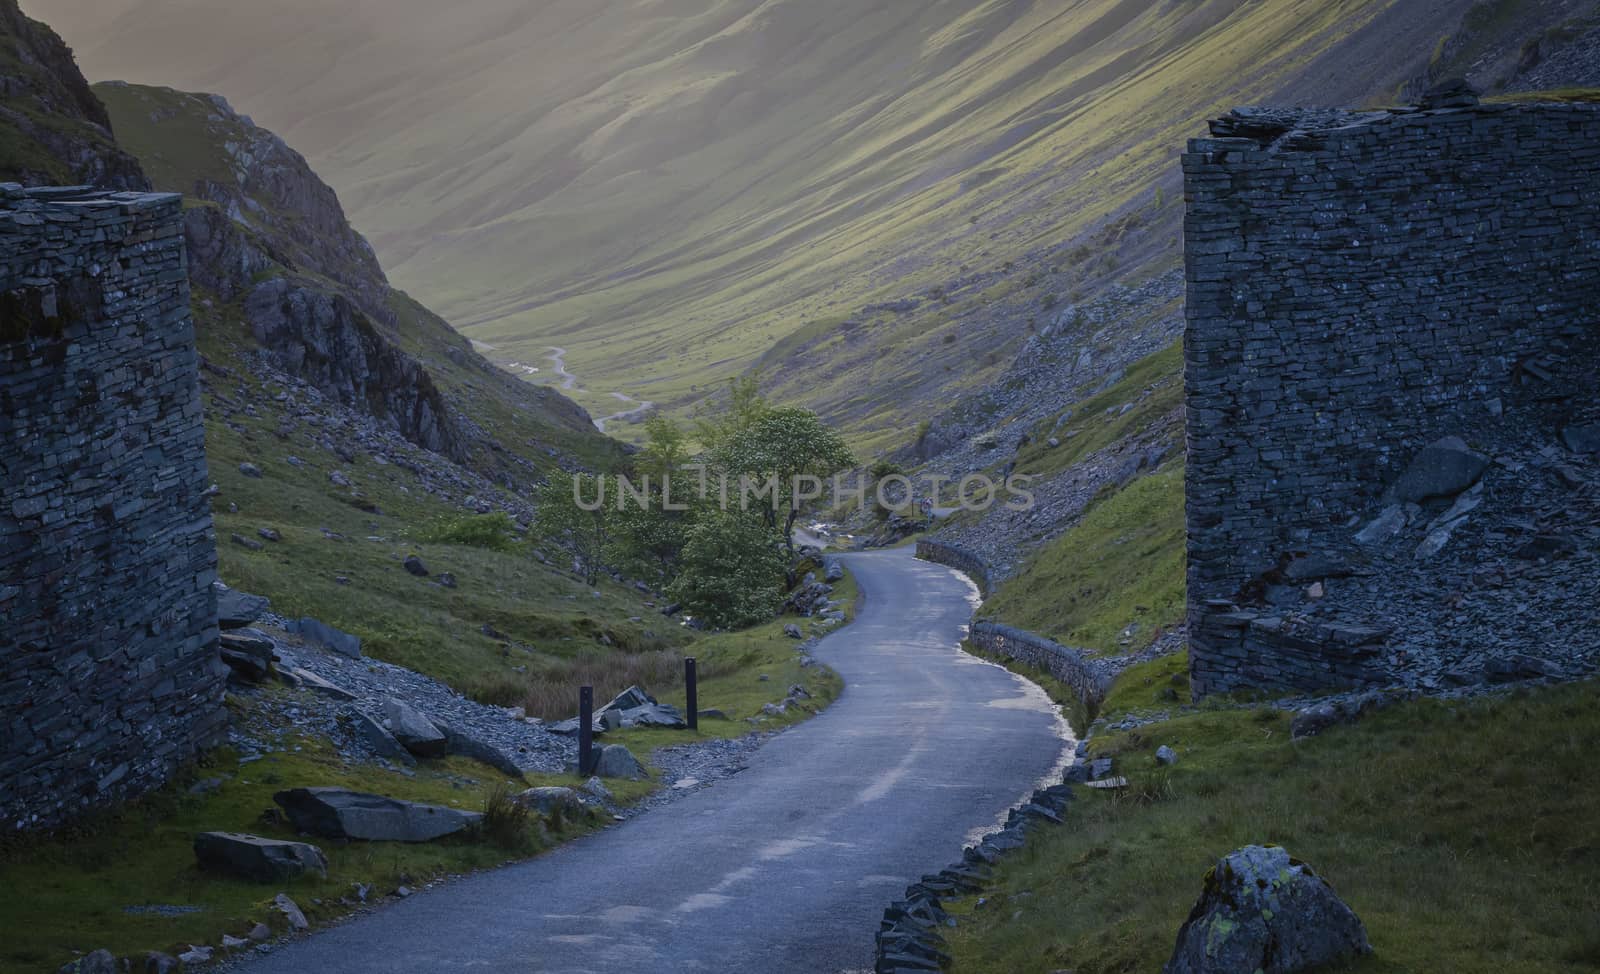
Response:
[[[1245,846],[1206,873],[1163,974],[1293,974],[1371,953],[1366,928],[1304,862]]]

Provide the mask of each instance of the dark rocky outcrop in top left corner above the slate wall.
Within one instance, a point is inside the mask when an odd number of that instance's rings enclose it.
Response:
[[[0,0],[0,182],[150,189],[72,51],[16,0]]]

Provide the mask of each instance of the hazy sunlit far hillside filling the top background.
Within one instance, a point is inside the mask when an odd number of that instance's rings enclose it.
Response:
[[[794,384],[886,445],[1003,365],[1046,289],[1176,262],[1174,154],[1205,117],[1392,90],[1467,3],[38,6],[91,75],[258,114],[400,283],[504,360],[566,347],[592,408],[683,405],[797,329],[992,275],[971,299],[1008,313],[923,301]],[[1112,226],[1149,238],[1058,253]]]

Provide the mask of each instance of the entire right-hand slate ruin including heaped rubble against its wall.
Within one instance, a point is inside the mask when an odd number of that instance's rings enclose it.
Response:
[[[1589,669],[1600,104],[1211,131],[1184,155],[1195,694]]]

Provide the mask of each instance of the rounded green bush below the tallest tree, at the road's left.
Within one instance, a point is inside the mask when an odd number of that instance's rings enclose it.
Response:
[[[782,601],[784,557],[760,518],[712,510],[694,521],[667,593],[720,629],[771,619]]]

